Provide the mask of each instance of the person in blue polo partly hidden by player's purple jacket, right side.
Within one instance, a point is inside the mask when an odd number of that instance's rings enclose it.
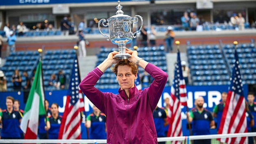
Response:
[[[165,110],[156,106],[153,112],[153,118],[156,127],[157,137],[166,137],[165,126],[168,125],[168,121]],[[158,142],[158,144],[165,144],[165,142]]]

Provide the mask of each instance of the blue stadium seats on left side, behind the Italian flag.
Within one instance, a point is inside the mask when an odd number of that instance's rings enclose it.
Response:
[[[74,49],[46,51],[43,54],[43,83],[45,90],[55,90],[54,87],[48,85],[48,80],[51,74],[57,75],[61,69],[64,70],[67,82],[69,81],[74,62],[74,59],[70,58],[74,58],[75,55],[76,51]],[[7,77],[7,90],[13,90],[11,79],[15,69],[20,70],[21,76],[24,71],[27,71],[28,75],[32,76],[32,72],[36,68],[38,60],[39,53],[37,51],[17,51],[10,53],[4,66],[0,68]],[[22,76],[22,86],[26,83],[24,80],[25,78]]]

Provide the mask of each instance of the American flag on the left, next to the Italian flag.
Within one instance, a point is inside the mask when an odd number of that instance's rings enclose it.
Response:
[[[70,76],[67,102],[63,113],[58,139],[81,139],[81,111],[85,111],[83,94],[79,88],[80,73],[77,56]]]

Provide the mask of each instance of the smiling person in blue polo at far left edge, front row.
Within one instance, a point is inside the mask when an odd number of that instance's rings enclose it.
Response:
[[[19,129],[22,116],[19,112],[13,110],[13,104],[13,97],[7,96],[7,109],[0,112],[0,121],[2,121],[1,139],[20,139]]]

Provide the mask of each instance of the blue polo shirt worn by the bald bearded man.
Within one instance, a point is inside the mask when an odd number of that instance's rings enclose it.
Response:
[[[213,121],[213,116],[208,110],[204,109],[202,113],[198,110],[190,111],[190,117],[193,118],[193,135],[210,134],[210,121]]]

